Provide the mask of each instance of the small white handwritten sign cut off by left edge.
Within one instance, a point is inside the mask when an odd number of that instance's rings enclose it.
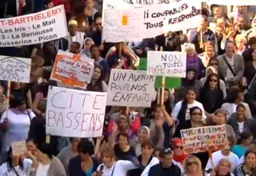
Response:
[[[0,55],[0,80],[30,82],[30,58],[16,58]]]

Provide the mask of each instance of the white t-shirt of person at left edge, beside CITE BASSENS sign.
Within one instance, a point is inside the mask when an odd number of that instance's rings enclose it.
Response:
[[[24,113],[15,113],[16,110],[10,109],[8,111],[9,130],[2,137],[2,150],[8,151],[11,142],[25,141],[28,138],[30,130],[30,118],[35,117],[35,114],[29,110],[30,117],[25,111]],[[2,114],[0,123],[4,122],[6,112]]]

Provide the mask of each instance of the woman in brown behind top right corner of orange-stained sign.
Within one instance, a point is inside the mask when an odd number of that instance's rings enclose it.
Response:
[[[236,141],[236,136],[235,136],[232,126],[230,126],[229,124],[226,124],[226,110],[222,110],[222,109],[216,110],[214,112],[213,123],[216,126],[225,125],[226,126],[226,136],[228,138],[233,138]],[[213,124],[209,123],[209,125],[213,125]]]

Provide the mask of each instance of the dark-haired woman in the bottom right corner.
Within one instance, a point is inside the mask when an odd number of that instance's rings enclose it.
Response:
[[[235,176],[246,176],[246,175],[254,175],[253,172],[255,170],[256,165],[256,153],[255,151],[248,150],[245,154],[245,162],[239,165],[235,172]]]

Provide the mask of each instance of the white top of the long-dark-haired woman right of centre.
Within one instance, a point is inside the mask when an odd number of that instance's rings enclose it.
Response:
[[[182,109],[182,102],[183,101],[177,102],[177,104],[174,106],[174,110],[173,110],[171,116],[175,120],[178,119],[178,113]],[[190,108],[192,108],[194,106],[198,106],[202,110],[202,121],[205,121],[205,119],[206,119],[205,109],[203,108],[202,103],[198,102],[196,100],[194,100],[194,102],[192,104],[187,104],[186,120],[190,119]]]

